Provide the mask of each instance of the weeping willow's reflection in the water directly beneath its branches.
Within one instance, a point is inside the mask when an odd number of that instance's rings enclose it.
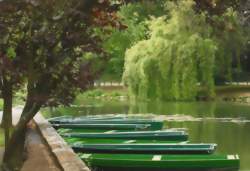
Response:
[[[214,117],[215,102],[131,102],[129,113],[185,114],[193,117]]]

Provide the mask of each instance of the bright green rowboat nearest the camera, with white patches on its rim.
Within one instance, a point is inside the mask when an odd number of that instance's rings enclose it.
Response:
[[[79,154],[92,168],[107,171],[238,170],[238,155]]]

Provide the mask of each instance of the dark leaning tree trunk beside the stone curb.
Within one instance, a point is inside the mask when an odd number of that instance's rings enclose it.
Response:
[[[26,113],[22,113],[22,116],[14,128],[14,131],[10,137],[10,140],[5,146],[5,152],[3,156],[3,167],[5,170],[18,170],[22,165],[23,148],[24,148],[24,135],[26,125],[40,110],[41,105],[33,104],[33,107]],[[15,148],[13,148],[15,147]]]

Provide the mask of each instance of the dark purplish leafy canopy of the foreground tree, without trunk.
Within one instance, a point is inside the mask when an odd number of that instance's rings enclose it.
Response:
[[[8,77],[13,86],[27,80],[32,100],[41,104],[68,103],[95,74],[88,69],[90,60],[82,57],[85,51],[98,51],[88,26],[94,24],[88,17],[91,3],[78,3],[78,8],[75,1],[36,3],[1,4],[6,10],[1,11],[1,78]]]

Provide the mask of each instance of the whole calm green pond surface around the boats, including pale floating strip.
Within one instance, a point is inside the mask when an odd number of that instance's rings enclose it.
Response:
[[[241,171],[250,170],[250,105],[229,102],[144,102],[82,100],[45,112],[47,117],[140,113],[165,121],[166,128],[187,128],[191,142],[217,143],[217,153],[239,154]]]

